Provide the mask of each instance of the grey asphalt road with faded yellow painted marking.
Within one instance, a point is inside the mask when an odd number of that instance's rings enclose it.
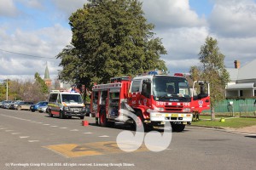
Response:
[[[256,135],[186,127],[166,150],[116,144],[126,127],[0,109],[0,169],[255,169]],[[129,131],[130,132],[130,131]]]

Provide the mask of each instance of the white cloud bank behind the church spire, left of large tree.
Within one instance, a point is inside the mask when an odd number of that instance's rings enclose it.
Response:
[[[11,36],[0,28],[1,48],[7,51],[30,54],[39,57],[55,58],[71,40],[71,31],[60,25],[39,29],[37,31],[21,31],[17,29]],[[60,59],[35,58],[19,54],[0,52],[0,75],[34,75],[38,72],[44,76],[45,63],[48,61],[49,72],[57,75]]]

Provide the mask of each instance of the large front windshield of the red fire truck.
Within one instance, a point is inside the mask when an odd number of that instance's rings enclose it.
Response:
[[[183,77],[154,77],[153,96],[156,101],[190,101],[190,90]]]

